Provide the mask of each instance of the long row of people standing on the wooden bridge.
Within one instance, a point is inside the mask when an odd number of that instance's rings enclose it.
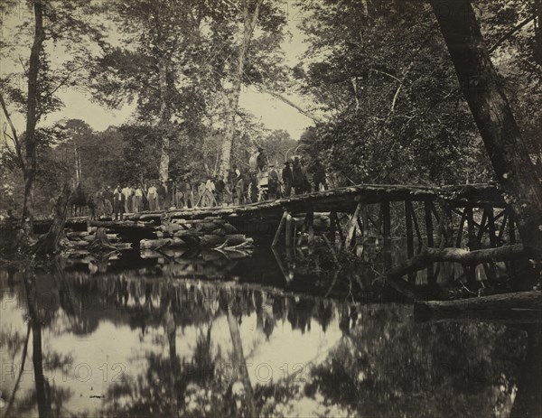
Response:
[[[327,188],[325,170],[319,160],[308,165],[295,157],[293,161],[285,162],[280,170],[267,163],[260,148],[255,165],[238,169],[233,164],[224,180],[213,176],[196,181],[183,178],[107,186],[89,197],[87,204],[94,218],[106,216],[122,220],[125,213],[241,205]],[[76,195],[78,192],[84,194],[80,185]]]

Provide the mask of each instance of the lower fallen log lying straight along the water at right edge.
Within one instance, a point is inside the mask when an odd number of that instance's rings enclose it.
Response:
[[[501,293],[456,301],[416,301],[414,313],[419,317],[455,315],[472,312],[537,312],[542,317],[542,292]]]

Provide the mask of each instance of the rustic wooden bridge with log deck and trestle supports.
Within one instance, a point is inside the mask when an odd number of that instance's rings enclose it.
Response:
[[[274,246],[283,234],[285,246],[301,244],[304,239],[312,245],[315,229],[317,234],[325,232],[331,242],[347,247],[354,246],[360,236],[377,235],[385,241],[392,236],[406,237],[409,256],[414,255],[415,241],[418,245],[424,241],[429,247],[463,245],[471,249],[482,243],[500,246],[516,242],[513,213],[499,188],[491,184],[362,184],[242,206],[125,214],[123,221],[69,218],[66,226],[79,230],[105,227],[122,234],[126,230],[143,232],[156,228],[164,219],[203,218],[222,218],[257,227],[251,231],[274,234]],[[42,232],[50,223],[50,219],[37,220],[34,228]]]

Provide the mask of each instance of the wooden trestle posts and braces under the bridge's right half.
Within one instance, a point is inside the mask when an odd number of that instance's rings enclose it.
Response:
[[[388,266],[391,266],[388,253],[392,235],[406,238],[407,258],[420,254],[424,247],[475,250],[516,243],[513,212],[506,205],[483,202],[469,205],[446,200],[381,200],[369,204],[360,201],[350,213],[334,210],[315,213],[312,209],[294,213],[292,209],[285,208],[272,246],[278,246],[284,234],[286,248],[306,243],[311,253],[315,242],[315,218],[326,218],[326,222],[320,222],[317,233],[327,236],[328,242],[346,251],[353,251],[360,239],[363,243],[368,239],[382,239]],[[494,275],[489,263],[483,264],[483,268],[488,276]],[[430,282],[435,280],[433,265],[428,267],[427,273]],[[472,274],[467,274],[471,280]],[[409,274],[409,281],[415,279],[415,274]]]

